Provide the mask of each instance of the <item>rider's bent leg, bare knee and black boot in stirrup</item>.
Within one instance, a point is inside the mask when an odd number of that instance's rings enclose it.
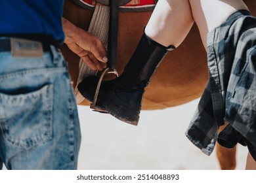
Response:
[[[102,105],[108,113],[123,122],[137,125],[144,88],[148,86],[168,48],[179,46],[193,24],[188,0],[158,1],[135,53],[122,75],[114,81],[113,87],[104,93]],[[82,87],[78,87],[85,97],[92,88],[86,86],[87,82],[83,80]]]

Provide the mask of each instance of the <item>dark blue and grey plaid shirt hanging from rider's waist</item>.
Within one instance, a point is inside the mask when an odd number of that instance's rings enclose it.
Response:
[[[256,146],[256,18],[240,10],[209,32],[207,62],[209,81],[186,137],[207,155],[217,140],[228,148],[250,144],[251,152]]]

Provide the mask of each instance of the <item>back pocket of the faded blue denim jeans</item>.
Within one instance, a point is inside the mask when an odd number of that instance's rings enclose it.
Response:
[[[6,141],[20,148],[53,139],[53,85],[18,95],[0,93],[0,127]]]

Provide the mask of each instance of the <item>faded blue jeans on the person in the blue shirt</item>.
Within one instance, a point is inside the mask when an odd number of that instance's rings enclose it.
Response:
[[[77,169],[77,105],[54,46],[39,57],[0,52],[0,128],[0,169]]]

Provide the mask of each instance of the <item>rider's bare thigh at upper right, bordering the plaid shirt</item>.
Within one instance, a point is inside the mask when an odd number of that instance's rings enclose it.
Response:
[[[207,33],[221,25],[231,14],[238,10],[248,10],[242,0],[189,0],[192,14],[203,45],[207,48]]]

